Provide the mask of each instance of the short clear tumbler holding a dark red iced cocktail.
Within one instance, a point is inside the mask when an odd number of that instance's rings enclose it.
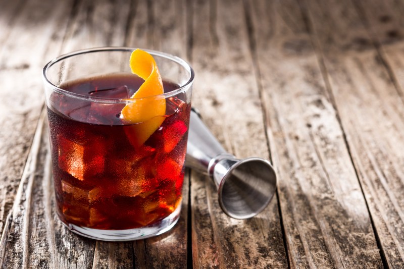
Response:
[[[99,240],[162,234],[181,210],[193,70],[178,57],[146,50],[165,92],[143,99],[165,99],[166,112],[129,124],[119,113],[138,101],[128,100],[136,90],[128,78],[139,82],[129,67],[133,50],[75,51],[43,69],[57,212],[71,231]]]

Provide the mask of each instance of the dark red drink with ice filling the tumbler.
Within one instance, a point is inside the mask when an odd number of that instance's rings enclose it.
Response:
[[[134,75],[110,75],[61,86],[72,93],[126,99],[143,83]],[[164,82],[165,92],[178,85]],[[49,98],[52,159],[58,213],[81,227],[123,230],[154,224],[181,202],[190,104],[166,99],[166,115],[143,144],[139,128],[119,117],[125,103]]]

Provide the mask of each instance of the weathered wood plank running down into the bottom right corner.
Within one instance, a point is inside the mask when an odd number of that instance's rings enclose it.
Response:
[[[319,56],[323,56],[329,91],[346,134],[382,256],[386,266],[401,268],[404,266],[403,100],[350,1],[327,4],[302,1],[302,6],[305,12],[307,7],[313,40]]]

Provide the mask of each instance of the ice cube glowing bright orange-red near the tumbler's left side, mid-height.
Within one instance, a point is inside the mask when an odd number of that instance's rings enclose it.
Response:
[[[62,134],[58,138],[59,167],[73,177],[84,180],[102,173],[105,168],[106,141],[102,137],[87,139],[83,145]],[[88,138],[88,137],[87,137]]]

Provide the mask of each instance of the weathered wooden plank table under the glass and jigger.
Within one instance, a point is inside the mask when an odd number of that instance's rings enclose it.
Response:
[[[402,14],[395,0],[1,0],[1,267],[403,268]],[[266,210],[230,219],[188,171],[166,234],[108,243],[62,226],[41,69],[95,46],[187,59],[225,148],[274,164]]]

